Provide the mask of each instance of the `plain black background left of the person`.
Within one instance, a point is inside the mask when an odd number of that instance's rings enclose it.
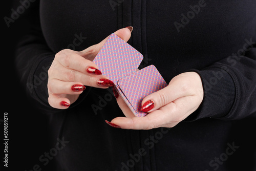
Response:
[[[29,24],[24,19],[27,11],[19,16],[10,27],[4,17],[11,16],[11,9],[20,6],[19,1],[2,2],[2,79],[1,89],[4,96],[0,119],[4,119],[4,113],[8,113],[8,168],[4,167],[4,124],[1,125],[1,167],[0,170],[33,170],[35,164],[40,164],[39,157],[49,152],[46,116],[33,108],[32,102],[26,98],[26,94],[19,83],[14,65],[15,46],[24,34],[27,33]],[[26,9],[26,10],[29,10]],[[42,170],[48,169],[48,165],[42,165]]]

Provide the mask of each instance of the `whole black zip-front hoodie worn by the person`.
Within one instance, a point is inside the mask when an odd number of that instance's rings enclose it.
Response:
[[[16,49],[28,96],[49,117],[49,134],[69,141],[53,170],[256,170],[256,1],[36,1],[30,34]],[[48,103],[47,71],[62,49],[80,51],[120,28],[168,83],[197,72],[204,99],[173,128],[121,130],[111,88],[87,87],[67,110]]]

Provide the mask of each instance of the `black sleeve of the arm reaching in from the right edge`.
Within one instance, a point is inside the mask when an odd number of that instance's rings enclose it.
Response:
[[[256,37],[245,39],[237,53],[197,72],[204,98],[186,120],[217,118],[236,120],[256,117]]]

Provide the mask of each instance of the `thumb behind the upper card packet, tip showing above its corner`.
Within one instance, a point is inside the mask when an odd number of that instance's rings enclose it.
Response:
[[[131,33],[133,31],[133,27],[126,27],[126,28],[122,28],[117,30],[116,32],[114,32],[118,37],[120,37],[121,39],[123,39],[124,41],[128,41],[131,37]],[[88,60],[93,61],[93,59],[95,58],[95,56],[99,53],[100,49],[103,47],[103,45],[105,44],[106,40],[109,38],[106,37],[104,40],[102,40],[101,42],[99,42],[96,45],[93,45],[87,49],[84,49],[80,52],[78,52],[78,54]]]

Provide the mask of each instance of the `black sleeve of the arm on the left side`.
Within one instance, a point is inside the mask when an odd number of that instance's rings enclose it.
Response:
[[[48,103],[48,69],[55,53],[47,46],[39,20],[39,1],[34,2],[25,16],[30,24],[29,33],[19,40],[15,52],[15,65],[26,94],[36,102],[38,108],[54,110]],[[90,91],[87,87],[75,106]],[[71,106],[71,108],[72,108]]]

